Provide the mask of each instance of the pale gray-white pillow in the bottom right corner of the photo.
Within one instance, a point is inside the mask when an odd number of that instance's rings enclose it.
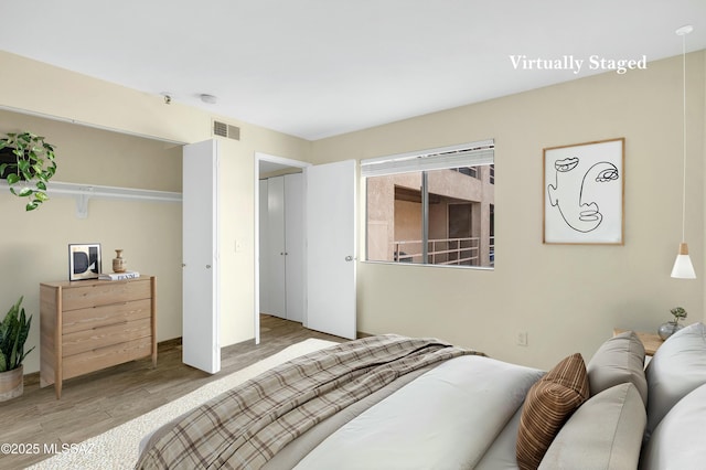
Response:
[[[702,385],[674,405],[654,429],[643,449],[640,468],[703,469],[706,462],[705,423],[706,385]]]

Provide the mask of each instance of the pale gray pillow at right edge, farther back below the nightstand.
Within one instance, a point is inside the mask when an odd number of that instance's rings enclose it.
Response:
[[[706,327],[694,323],[672,334],[645,370],[650,438],[670,409],[694,388],[706,383]]]

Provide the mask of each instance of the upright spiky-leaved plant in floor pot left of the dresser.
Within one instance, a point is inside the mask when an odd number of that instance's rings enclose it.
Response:
[[[32,317],[20,308],[23,297],[10,308],[0,322],[0,402],[22,395],[24,391],[24,368],[22,361],[34,346],[24,352],[24,342],[30,334]]]

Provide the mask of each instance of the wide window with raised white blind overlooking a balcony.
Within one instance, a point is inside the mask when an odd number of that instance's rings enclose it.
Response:
[[[363,160],[366,260],[492,268],[493,161],[492,140]]]

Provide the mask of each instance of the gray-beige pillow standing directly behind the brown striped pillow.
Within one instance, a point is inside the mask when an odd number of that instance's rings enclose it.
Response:
[[[648,405],[648,381],[644,376],[644,345],[632,331],[617,334],[596,351],[586,366],[591,396],[618,384],[633,384],[642,403]]]

